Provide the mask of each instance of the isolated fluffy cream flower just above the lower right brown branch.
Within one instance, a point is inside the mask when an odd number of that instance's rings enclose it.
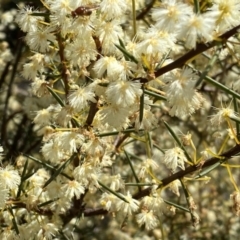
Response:
[[[184,162],[187,162],[187,158],[181,148],[175,147],[165,152],[163,161],[168,168],[172,171],[176,171],[177,167],[183,170],[185,169]]]

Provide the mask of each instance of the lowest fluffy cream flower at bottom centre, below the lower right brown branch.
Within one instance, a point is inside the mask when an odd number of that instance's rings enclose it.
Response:
[[[159,221],[157,217],[153,214],[153,211],[143,210],[141,213],[136,215],[136,220],[139,226],[145,224],[147,230],[151,230],[157,227]]]

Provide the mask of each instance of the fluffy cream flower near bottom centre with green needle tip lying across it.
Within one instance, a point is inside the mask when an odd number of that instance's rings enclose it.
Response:
[[[123,201],[122,199],[118,199],[117,211],[132,215],[132,212],[136,212],[138,210],[139,201],[133,199],[132,195],[129,192],[127,192],[126,196],[124,196],[123,194],[121,195],[126,199],[127,202]]]

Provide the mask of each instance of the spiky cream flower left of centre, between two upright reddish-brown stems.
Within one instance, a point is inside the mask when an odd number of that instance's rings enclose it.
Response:
[[[79,112],[88,106],[88,101],[96,102],[95,94],[90,87],[79,88],[68,97],[69,104],[75,112]]]

